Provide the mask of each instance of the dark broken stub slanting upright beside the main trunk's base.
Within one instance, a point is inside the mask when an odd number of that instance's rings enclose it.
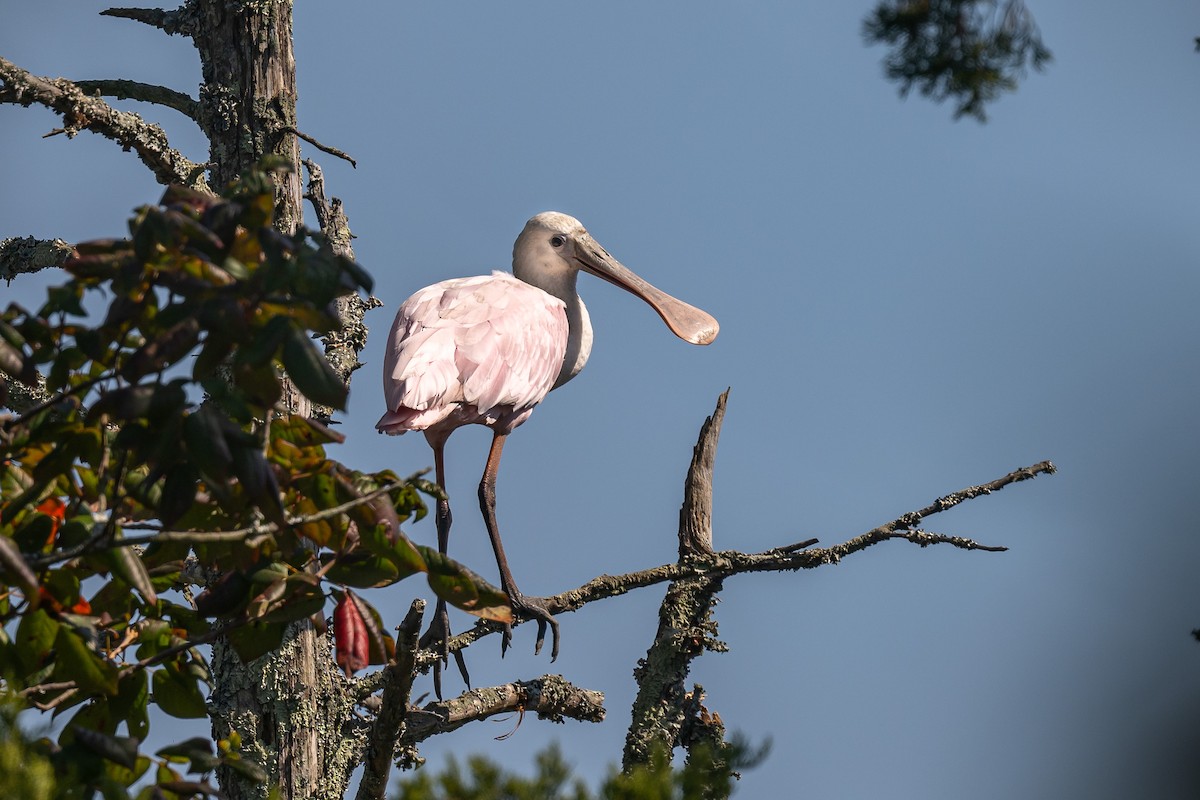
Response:
[[[396,654],[384,668],[383,699],[371,728],[358,800],[383,800],[388,792],[392,754],[408,714],[408,698],[416,678],[416,640],[421,634],[425,601],[414,600],[397,628]]]

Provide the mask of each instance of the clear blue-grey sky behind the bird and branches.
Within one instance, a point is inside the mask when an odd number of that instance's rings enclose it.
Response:
[[[187,42],[103,7],[8,4],[0,54],[194,94]],[[833,543],[1018,467],[1061,470],[930,521],[1007,553],[890,542],[727,582],[731,652],[694,679],[732,729],[773,742],[739,796],[1194,796],[1200,7],[1030,0],[1055,62],[986,126],[896,97],[859,36],[869,7],[298,4],[300,127],[359,168],[306,155],[386,303],[338,456],[432,463],[422,438],[372,428],[391,314],[434,281],[508,269],[524,221],[565,211],[721,335],[689,347],[581,279],[592,361],[500,471],[526,591],[673,558],[691,446],[726,386],[718,547]],[[138,110],[203,160],[182,116]],[[161,190],[108,140],[41,138],[56,125],[0,107],[0,235],[120,234]],[[0,296],[35,302],[42,283]],[[480,428],[448,450],[451,552],[492,575],[474,500],[486,446]],[[432,543],[432,521],[410,534]],[[416,590],[370,600],[395,624]],[[479,685],[560,672],[604,691],[606,723],[527,720],[503,742],[515,721],[475,726],[425,756],[526,768],[557,739],[601,775],[660,599],[565,615],[554,664],[528,628],[504,661],[493,642],[468,654]]]

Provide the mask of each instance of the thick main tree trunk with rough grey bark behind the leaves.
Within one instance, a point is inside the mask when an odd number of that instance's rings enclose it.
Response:
[[[280,173],[275,225],[292,234],[302,222],[304,192],[296,126],[296,74],[292,46],[292,2],[194,0],[188,32],[200,55],[203,86],[197,121],[209,138],[209,168],[216,187],[227,185],[264,156],[281,156],[292,169]],[[312,404],[290,381],[286,413],[312,414]],[[246,753],[270,776],[254,784],[227,771],[221,784],[232,800],[268,796],[278,783],[283,798],[341,798],[348,776],[326,765],[349,716],[342,679],[324,633],[307,622],[288,628],[283,646],[242,663],[224,640],[214,644],[214,692],[209,714],[217,739],[236,730]]]

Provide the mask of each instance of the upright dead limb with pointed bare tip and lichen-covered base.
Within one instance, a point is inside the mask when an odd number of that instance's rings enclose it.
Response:
[[[713,554],[713,463],[725,419],[728,390],[718,398],[716,410],[704,420],[692,451],[683,506],[679,509],[679,563]],[[688,715],[685,681],[694,658],[706,650],[724,652],[716,638],[713,606],[724,576],[686,576],[673,581],[659,607],[659,630],[646,657],[634,669],[637,697],[625,735],[623,769],[648,764],[655,750],[673,750]],[[697,690],[698,692],[698,690]],[[698,702],[698,700],[697,700]]]

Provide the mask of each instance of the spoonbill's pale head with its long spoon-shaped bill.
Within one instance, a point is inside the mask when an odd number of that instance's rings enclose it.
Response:
[[[608,254],[575,217],[542,211],[526,223],[512,246],[512,275],[556,296],[575,291],[578,271],[590,272],[637,295],[685,342],[708,344],[720,326],[707,312],[672,297]]]

